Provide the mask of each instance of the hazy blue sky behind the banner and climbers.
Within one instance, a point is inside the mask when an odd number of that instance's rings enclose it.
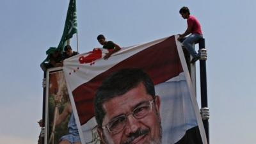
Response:
[[[43,99],[39,65],[45,51],[60,42],[68,2],[1,0],[0,144],[38,140]],[[210,143],[255,143],[256,1],[77,0],[79,52],[100,47],[99,34],[127,47],[184,33],[182,6],[200,21],[208,52]],[[197,90],[200,97],[199,86]]]

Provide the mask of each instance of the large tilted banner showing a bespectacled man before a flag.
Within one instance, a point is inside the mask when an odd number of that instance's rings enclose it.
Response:
[[[177,36],[64,61],[81,142],[207,143]]]

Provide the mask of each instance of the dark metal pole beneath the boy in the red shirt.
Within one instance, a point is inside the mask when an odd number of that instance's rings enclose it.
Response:
[[[206,59],[207,54],[205,50],[205,39],[202,38],[199,41],[199,51],[205,52],[204,58],[200,59],[200,87],[201,87],[201,115],[203,119],[205,134],[209,143],[209,108],[207,101],[207,77],[206,77]]]

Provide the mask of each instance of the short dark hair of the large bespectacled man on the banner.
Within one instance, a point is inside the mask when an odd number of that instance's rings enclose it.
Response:
[[[94,113],[97,124],[101,127],[106,111],[102,105],[110,99],[127,93],[132,88],[136,88],[138,84],[143,83],[146,92],[153,97],[156,97],[154,83],[150,77],[140,68],[125,68],[113,72],[109,77],[104,79],[101,86],[98,88],[94,99]]]

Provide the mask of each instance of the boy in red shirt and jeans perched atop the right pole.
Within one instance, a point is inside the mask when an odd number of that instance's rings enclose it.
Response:
[[[193,44],[200,40],[200,38],[203,38],[201,26],[198,20],[190,15],[188,7],[183,6],[182,8],[180,8],[180,15],[181,17],[183,17],[183,19],[187,19],[188,28],[186,29],[185,33],[179,35],[178,40],[180,41],[185,36],[191,34],[182,42],[182,44],[188,50],[191,56],[193,56],[191,63],[195,63],[195,61],[200,59],[200,56],[198,53],[196,53]]]

